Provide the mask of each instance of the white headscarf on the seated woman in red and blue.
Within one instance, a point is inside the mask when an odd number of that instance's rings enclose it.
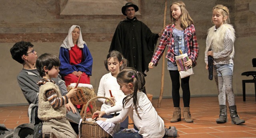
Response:
[[[70,28],[69,28],[69,31],[68,31],[68,36],[65,38],[65,40],[63,41],[63,44],[60,46],[60,47],[64,47],[65,49],[68,49],[70,50],[71,47],[74,47],[74,43],[73,43],[73,39],[72,39],[72,31],[78,27],[79,30],[80,30],[80,34],[79,34],[79,38],[77,40],[77,46],[79,48],[84,48],[84,44],[86,44],[84,41],[83,41],[83,38],[82,38],[82,33],[81,33],[81,29],[80,29],[80,26],[78,25],[72,25]]]

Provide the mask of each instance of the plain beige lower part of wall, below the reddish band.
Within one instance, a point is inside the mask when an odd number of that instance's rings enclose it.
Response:
[[[252,68],[251,59],[255,58],[255,54],[249,54],[250,51],[256,51],[254,46],[254,40],[256,37],[244,37],[238,38],[235,43],[236,56],[234,59],[234,93],[236,95],[242,94],[242,80],[247,79],[246,76],[241,76],[244,71],[255,70]],[[246,42],[246,45],[244,45]],[[200,52],[198,57],[198,65],[194,68],[194,75],[190,77],[190,91],[192,97],[197,96],[216,96],[218,91],[214,81],[208,80],[208,71],[205,70],[204,63],[204,43],[205,40],[198,41],[200,45]],[[34,49],[38,52],[38,55],[44,52],[52,52],[58,55],[59,46],[61,43],[33,43]],[[108,53],[108,45],[110,42],[88,42],[88,48],[93,56],[93,69],[91,76],[91,84],[94,86],[95,91],[98,89],[100,78],[107,73],[104,68],[103,61]],[[22,69],[22,65],[12,60],[10,55],[10,48],[14,43],[0,43],[2,50],[0,51],[0,76],[2,83],[0,83],[1,97],[0,106],[12,105],[12,104],[27,104],[20,87],[18,86],[16,76]],[[247,53],[247,54],[244,54]],[[165,60],[166,63],[166,60]],[[161,70],[162,70],[162,58],[157,67],[151,69],[146,77],[147,92],[151,93],[154,98],[158,98],[161,85]],[[164,71],[164,97],[171,97],[171,81],[168,70]],[[182,95],[182,91],[180,90]],[[246,84],[246,94],[254,95],[254,85]],[[217,100],[217,99],[216,99]]]

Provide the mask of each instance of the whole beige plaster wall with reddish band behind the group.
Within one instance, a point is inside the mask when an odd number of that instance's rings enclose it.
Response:
[[[242,80],[249,77],[241,76],[244,71],[252,68],[252,58],[255,58],[256,40],[255,2],[254,0],[184,0],[190,16],[194,19],[198,44],[200,46],[198,65],[194,75],[190,77],[191,96],[216,96],[218,91],[214,81],[208,80],[205,70],[204,49],[206,31],[212,26],[210,22],[212,7],[215,4],[225,4],[230,7],[231,20],[237,33],[234,59],[234,93],[242,94]],[[112,35],[119,21],[124,16],[60,16],[58,0],[10,1],[2,0],[0,5],[0,106],[26,105],[16,76],[22,65],[12,60],[10,48],[17,41],[31,41],[38,55],[52,52],[58,55],[59,47],[67,35],[68,28],[74,24],[82,28],[84,41],[93,56],[91,84],[97,91],[100,78],[107,73],[103,61],[108,54]],[[146,23],[153,32],[158,32],[163,26],[164,0],[139,0],[140,16],[138,19]],[[168,6],[170,2],[168,1]],[[114,8],[114,7],[113,7]],[[170,19],[167,11],[166,23]],[[244,15],[244,16],[242,16]],[[246,16],[245,16],[246,15]],[[241,19],[241,17],[244,17]],[[241,27],[242,26],[242,27]],[[249,33],[248,33],[249,32]],[[166,59],[165,59],[166,64]],[[147,92],[154,98],[160,93],[162,58],[157,67],[151,69],[146,77]],[[182,95],[182,91],[180,90]],[[246,94],[254,95],[254,85],[246,85]],[[171,97],[171,81],[165,65],[164,97]],[[217,97],[216,97],[217,100]]]

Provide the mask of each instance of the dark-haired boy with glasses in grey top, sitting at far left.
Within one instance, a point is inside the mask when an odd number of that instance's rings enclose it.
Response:
[[[29,103],[28,116],[31,124],[38,124],[42,122],[38,119],[38,94],[39,86],[36,84],[42,78],[40,77],[38,70],[36,69],[37,52],[33,49],[34,45],[30,42],[20,41],[14,44],[10,49],[12,58],[23,65],[22,70],[17,76],[18,84],[24,94],[26,100]],[[52,78],[60,88],[62,95],[68,93],[65,82],[61,80],[60,75],[58,78]],[[70,121],[73,129],[78,133],[78,123],[81,116],[74,105],[68,99],[68,104],[65,105],[67,110],[67,118]],[[73,112],[73,113],[72,113]]]

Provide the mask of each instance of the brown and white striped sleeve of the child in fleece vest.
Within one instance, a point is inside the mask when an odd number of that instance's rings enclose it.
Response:
[[[60,107],[68,103],[68,97],[66,95],[58,97],[53,89],[49,89],[48,91],[46,91],[45,95],[47,97],[47,100],[54,108]]]

